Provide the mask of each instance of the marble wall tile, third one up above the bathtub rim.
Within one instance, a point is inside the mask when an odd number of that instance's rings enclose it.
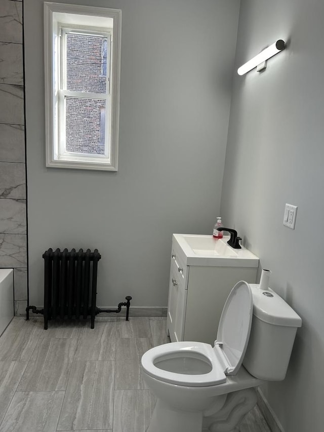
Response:
[[[26,198],[25,164],[0,162],[0,198]]]

